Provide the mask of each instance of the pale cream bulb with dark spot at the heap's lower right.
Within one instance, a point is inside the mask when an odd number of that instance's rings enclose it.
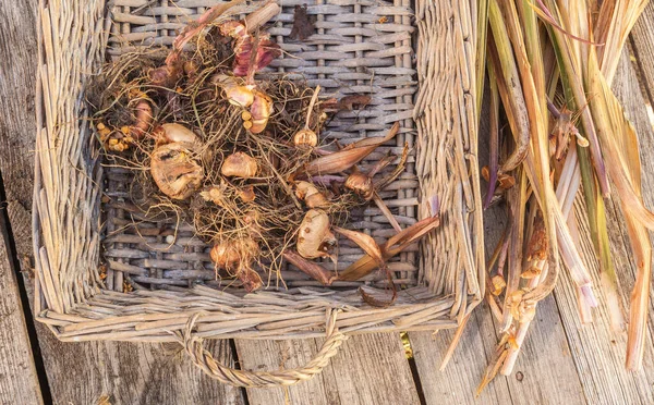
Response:
[[[322,209],[311,209],[304,216],[298,233],[298,253],[305,259],[329,257],[336,237],[329,230],[329,216]]]

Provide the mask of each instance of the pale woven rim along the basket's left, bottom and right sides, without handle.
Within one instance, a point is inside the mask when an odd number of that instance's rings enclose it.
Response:
[[[63,231],[65,226],[75,226],[75,220],[82,221],[81,218],[93,219],[97,214],[97,206],[92,202],[99,198],[100,192],[97,189],[101,173],[98,174],[90,164],[84,167],[75,167],[71,163],[68,168],[69,172],[61,167],[65,165],[64,158],[60,156],[64,150],[72,154],[68,158],[70,160],[78,159],[80,155],[89,154],[92,150],[93,136],[87,126],[68,125],[65,127],[58,126],[61,122],[68,122],[61,116],[57,116],[53,111],[52,103],[58,100],[58,97],[71,97],[65,108],[62,108],[61,114],[71,111],[83,111],[82,91],[69,91],[65,89],[53,88],[56,83],[63,79],[66,73],[73,77],[80,78],[85,70],[97,65],[97,61],[101,60],[105,52],[101,44],[108,40],[110,26],[107,16],[108,9],[105,7],[104,0],[89,1],[88,13],[80,15],[81,25],[87,28],[84,33],[77,33],[77,37],[71,38],[71,44],[75,44],[78,39],[81,45],[78,48],[72,47],[70,58],[81,58],[80,66],[73,66],[74,63],[63,62],[58,60],[64,58],[62,50],[58,49],[57,39],[53,39],[52,33],[56,30],[57,24],[65,24],[60,21],[62,12],[61,8],[65,0],[52,0],[48,4],[41,3],[39,14],[41,16],[41,26],[39,27],[39,51],[37,69],[37,97],[36,97],[36,113],[37,113],[37,145],[35,158],[35,192],[34,192],[34,250],[36,258],[37,277],[35,282],[35,317],[37,320],[46,323],[50,330],[61,341],[94,341],[94,340],[114,340],[114,341],[140,341],[140,342],[171,342],[175,341],[173,332],[182,331],[191,317],[199,312],[196,331],[202,338],[239,338],[239,339],[298,339],[298,338],[317,338],[325,334],[325,309],[338,309],[342,314],[336,320],[338,329],[346,334],[371,333],[380,331],[405,331],[405,330],[437,330],[456,328],[462,319],[481,302],[484,296],[485,279],[484,279],[484,255],[483,248],[480,250],[480,244],[483,246],[483,234],[475,234],[481,229],[482,216],[480,209],[468,209],[461,207],[461,212],[468,211],[467,214],[461,213],[461,219],[453,218],[452,221],[460,221],[461,226],[458,229],[464,236],[460,237],[460,243],[468,245],[459,246],[455,243],[451,246],[455,250],[461,249],[459,260],[465,261],[468,266],[465,271],[461,271],[458,275],[457,283],[462,283],[464,291],[457,296],[437,296],[425,286],[413,286],[409,290],[402,290],[396,304],[388,308],[373,308],[361,305],[354,300],[355,291],[338,292],[327,289],[314,287],[294,287],[289,292],[279,293],[276,291],[258,291],[252,294],[231,294],[230,292],[219,291],[203,285],[196,285],[193,289],[170,289],[156,291],[135,291],[132,293],[120,293],[114,291],[92,291],[88,284],[88,277],[77,282],[65,284],[68,291],[62,292],[61,280],[72,278],[68,268],[55,268],[50,266],[52,261],[51,255],[53,247],[57,247],[57,253],[60,256],[57,258],[68,266],[82,266],[86,268],[87,273],[93,274],[93,270],[88,269],[93,266],[93,259],[98,258],[94,249],[98,249],[99,235],[88,233],[80,234],[84,242],[84,246],[80,247],[82,242],[72,242],[73,234]],[[215,2],[206,1],[190,1],[180,0],[178,3],[199,4]],[[117,5],[136,4],[137,0],[117,0]],[[329,1],[327,1],[329,3]],[[348,1],[337,1],[336,4],[346,4]],[[363,5],[375,5],[380,1],[352,1],[351,4],[359,3]],[[386,7],[383,12],[393,10],[403,10],[409,0],[396,0],[395,5],[378,5]],[[468,3],[468,2],[464,2]],[[292,7],[291,2],[288,7]],[[397,5],[399,4],[399,5]],[[372,7],[371,5],[371,7]],[[284,3],[284,8],[287,4]],[[311,8],[311,7],[310,7]],[[417,47],[424,46],[421,38],[424,36],[434,36],[436,27],[435,22],[426,17],[427,9],[438,9],[438,4],[429,4],[427,1],[419,0],[416,2],[415,19],[417,20]],[[474,10],[469,9],[470,4],[461,5],[461,15],[475,15]],[[182,10],[181,8],[177,9]],[[288,14],[288,13],[287,13]],[[284,14],[286,15],[286,14]],[[122,19],[129,19],[128,15],[121,15]],[[136,16],[132,16],[136,19]],[[411,14],[398,14],[399,19],[403,19],[400,23],[407,23],[413,16]],[[145,17],[144,17],[145,19]],[[464,21],[464,24],[459,27],[458,32],[451,34],[452,40],[459,40],[465,46],[474,39],[474,20]],[[149,21],[149,20],[148,20]],[[59,27],[61,28],[61,27]],[[431,30],[429,30],[431,29]],[[74,36],[73,34],[71,34]],[[471,39],[472,38],[472,39]],[[84,42],[85,41],[85,42]],[[58,53],[59,52],[59,53]],[[457,59],[458,74],[472,77],[474,74],[474,47],[467,49],[461,48],[461,54]],[[424,56],[417,54],[419,81],[424,86],[435,86],[431,83],[431,77],[421,72],[425,68]],[[422,59],[421,59],[422,58]],[[73,72],[61,73],[61,68],[72,69]],[[58,71],[58,69],[60,71]],[[433,73],[433,72],[432,72]],[[461,82],[462,81],[462,82]],[[460,79],[460,102],[462,107],[458,111],[459,114],[468,116],[468,121],[461,123],[461,127],[457,131],[460,136],[465,137],[468,151],[456,150],[455,158],[461,159],[461,164],[468,167],[465,177],[459,179],[460,183],[449,188],[449,194],[470,193],[470,201],[464,201],[463,196],[459,196],[462,205],[472,204],[481,206],[479,181],[474,179],[476,175],[476,120],[474,116],[474,79]],[[60,85],[61,87],[61,85]],[[419,133],[429,133],[434,128],[429,128],[426,122],[428,121],[423,115],[425,114],[424,105],[434,102],[438,95],[433,91],[421,91],[415,98],[415,110],[413,115],[416,118]],[[74,98],[75,96],[76,98]],[[422,107],[421,107],[422,106]],[[68,108],[68,110],[66,110]],[[80,116],[73,116],[72,122]],[[425,121],[427,120],[427,121]],[[424,127],[427,125],[427,127]],[[69,145],[69,140],[61,138],[64,134],[73,134],[76,144]],[[72,143],[73,140],[71,140]],[[59,144],[58,144],[59,143]],[[44,151],[44,152],[41,152]],[[92,157],[97,159],[97,156]],[[72,180],[65,179],[65,174],[73,172],[84,172],[84,176],[71,174]],[[471,173],[471,174],[470,174]],[[73,179],[74,177],[74,179]],[[479,177],[479,176],[477,176]],[[472,179],[472,180],[470,180]],[[66,183],[68,182],[68,183]],[[94,187],[95,184],[95,187]],[[68,188],[66,188],[68,187]],[[75,188],[77,187],[77,188]],[[63,193],[66,189],[68,193]],[[463,189],[463,192],[461,192]],[[456,196],[447,195],[444,198],[446,201],[452,200]],[[468,195],[465,196],[468,198]],[[58,210],[62,209],[68,202],[55,200],[56,198],[70,198],[75,200],[78,198],[83,201],[78,210],[80,217],[75,217],[71,211],[66,211],[69,216],[65,219],[57,216]],[[68,207],[68,206],[66,206]],[[77,214],[77,212],[75,212]],[[73,218],[71,218],[73,217]],[[97,218],[97,217],[95,217]],[[457,222],[459,223],[459,222]],[[86,225],[92,226],[90,223]],[[452,225],[455,226],[455,225]],[[81,232],[86,232],[84,229]],[[64,235],[61,241],[57,241],[58,235]],[[471,235],[476,235],[472,237]],[[68,237],[68,238],[66,238]],[[474,240],[474,242],[472,242]],[[467,241],[467,242],[465,242]],[[476,246],[475,247],[473,247]],[[48,247],[52,247],[50,250]],[[70,262],[66,259],[61,259],[65,253],[71,249],[86,248],[87,251],[81,255],[71,256],[69,260],[80,260],[82,262]],[[68,250],[66,250],[68,249]],[[481,254],[480,254],[481,251]],[[95,256],[94,256],[95,255]],[[432,253],[432,255],[434,255]],[[84,259],[88,259],[84,261]],[[97,261],[96,261],[97,262]],[[428,266],[428,263],[427,263]],[[453,265],[452,265],[453,266]],[[465,287],[465,281],[474,281]],[[308,295],[307,295],[308,294]],[[72,303],[69,304],[68,302]],[[129,302],[129,305],[125,304]],[[209,307],[210,303],[210,307]],[[116,308],[123,308],[117,315]],[[73,308],[66,310],[65,308]],[[254,329],[256,328],[256,329]]]

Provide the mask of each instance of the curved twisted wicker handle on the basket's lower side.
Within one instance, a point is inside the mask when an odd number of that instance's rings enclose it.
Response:
[[[207,376],[226,384],[244,388],[291,385],[308,380],[323,371],[329,359],[334,357],[338,347],[348,339],[336,328],[337,310],[328,310],[325,343],[308,363],[295,369],[277,371],[246,371],[237,370],[217,363],[214,356],[204,348],[203,339],[193,334],[192,329],[201,314],[195,314],[189,322],[184,334],[177,333],[180,344]]]

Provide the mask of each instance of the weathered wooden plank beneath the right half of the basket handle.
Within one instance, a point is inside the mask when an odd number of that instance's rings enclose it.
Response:
[[[277,370],[308,361],[322,339],[249,342],[237,340],[245,369]],[[249,389],[251,405],[419,404],[409,363],[397,333],[351,336],[330,365],[310,381],[286,389]]]

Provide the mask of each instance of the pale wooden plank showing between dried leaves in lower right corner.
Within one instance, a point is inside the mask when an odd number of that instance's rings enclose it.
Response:
[[[618,72],[614,78],[614,89],[622,101],[627,114],[639,131],[641,139],[641,157],[643,158],[643,192],[651,206],[654,196],[654,172],[652,171],[651,156],[654,154],[652,144],[652,128],[644,111],[644,100],[638,87],[634,71],[629,62],[629,54],[625,51]],[[608,230],[614,255],[614,263],[621,284],[621,299],[629,302],[629,294],[633,286],[634,269],[632,255],[629,247],[627,231],[617,209],[617,196],[607,202]],[[579,211],[578,211],[579,214]],[[600,299],[600,307],[593,310],[594,322],[581,324],[573,283],[564,272],[555,296],[564,328],[572,351],[572,357],[583,381],[583,391],[591,404],[651,404],[652,397],[652,344],[649,340],[645,351],[644,369],[641,371],[625,370],[626,334],[611,331],[610,320],[606,310],[606,300],[598,289],[600,275],[595,251],[585,226],[585,220],[579,221],[581,234],[581,253],[590,266],[593,283]],[[650,319],[650,328],[651,328]]]

